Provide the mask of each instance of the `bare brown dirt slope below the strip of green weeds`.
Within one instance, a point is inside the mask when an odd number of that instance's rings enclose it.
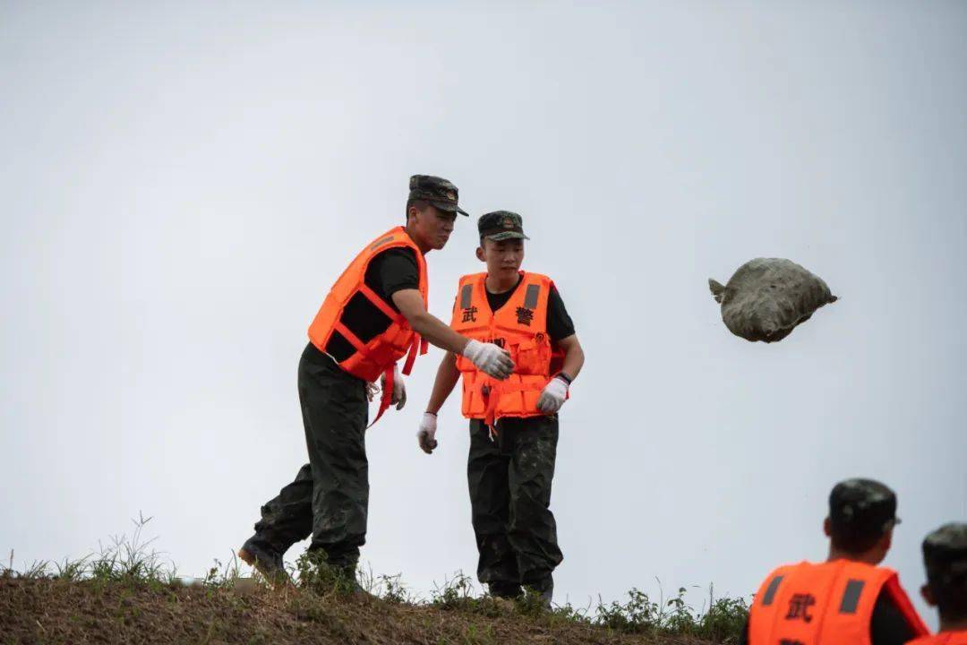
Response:
[[[289,589],[0,578],[0,643],[618,645],[705,641],[618,634],[556,616],[479,612]]]

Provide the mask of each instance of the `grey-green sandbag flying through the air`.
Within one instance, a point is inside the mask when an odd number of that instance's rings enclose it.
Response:
[[[724,286],[709,279],[709,288],[730,332],[765,342],[789,336],[816,309],[836,302],[826,282],[777,257],[749,260]]]

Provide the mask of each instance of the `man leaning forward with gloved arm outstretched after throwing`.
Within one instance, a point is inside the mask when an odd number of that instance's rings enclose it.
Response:
[[[376,237],[337,279],[308,329],[299,362],[299,400],[309,463],[262,507],[239,551],[267,576],[284,574],[282,554],[309,534],[310,550],[355,581],[366,542],[368,384],[383,379],[381,415],[405,402],[397,361],[408,374],[425,341],[459,354],[489,378],[507,378],[513,363],[494,345],[460,336],[426,311],[425,253],[443,249],[454,230],[456,187],[427,175],[410,178],[406,225]],[[422,337],[422,338],[421,338]],[[379,417],[377,416],[377,419]]]

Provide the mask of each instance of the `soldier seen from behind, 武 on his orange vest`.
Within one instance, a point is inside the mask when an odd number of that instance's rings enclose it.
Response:
[[[879,567],[893,541],[896,495],[872,480],[830,493],[826,562],[779,567],[749,608],[750,645],[902,645],[928,633],[891,569]]]

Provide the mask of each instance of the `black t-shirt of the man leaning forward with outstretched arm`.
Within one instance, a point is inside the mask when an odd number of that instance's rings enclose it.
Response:
[[[420,288],[420,268],[413,249],[387,249],[377,253],[366,267],[366,286],[376,292],[383,301],[399,311],[393,302],[393,294],[403,289]],[[390,317],[377,308],[361,293],[346,304],[344,322],[363,342],[382,334],[389,328]],[[356,351],[352,344],[338,332],[333,332],[326,353],[338,363],[345,361]]]

